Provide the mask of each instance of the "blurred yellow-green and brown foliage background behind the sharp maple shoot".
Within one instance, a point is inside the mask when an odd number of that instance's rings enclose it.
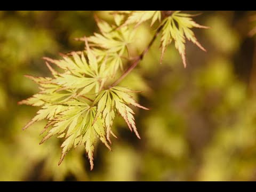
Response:
[[[45,122],[26,131],[38,108],[17,102],[38,91],[23,75],[50,75],[42,57],[79,51],[75,37],[98,31],[93,14],[107,11],[0,11],[1,181],[232,181],[256,180],[256,11],[191,11],[210,29],[195,29],[207,52],[187,43],[183,68],[172,44],[159,64],[159,39],[123,85],[143,91],[136,98],[138,140],[120,119],[113,151],[101,143],[94,169],[83,147],[58,166],[60,140],[38,145]],[[255,18],[255,16],[254,16]],[[138,28],[142,50],[153,31]]]

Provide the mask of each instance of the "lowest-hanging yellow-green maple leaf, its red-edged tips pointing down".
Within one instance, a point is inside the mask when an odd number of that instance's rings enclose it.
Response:
[[[62,111],[52,120],[52,128],[41,143],[53,135],[59,134],[61,138],[66,135],[66,140],[61,145],[62,155],[59,164],[61,164],[71,147],[76,148],[78,145],[84,144],[90,159],[91,169],[93,169],[93,150],[96,138],[99,138],[110,149],[105,137],[103,121],[101,118],[97,118],[97,121],[92,125],[96,109],[82,100],[73,100],[68,102],[68,105],[67,110]],[[63,132],[65,133],[63,134]]]

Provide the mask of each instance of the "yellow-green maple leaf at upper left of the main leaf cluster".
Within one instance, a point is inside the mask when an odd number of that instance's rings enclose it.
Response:
[[[84,52],[81,56],[73,52],[73,59],[64,56],[62,60],[52,60],[45,58],[65,69],[64,73],[59,73],[52,79],[52,83],[60,85],[59,90],[73,90],[78,95],[89,93],[94,88],[94,93],[98,93],[106,81],[107,71],[104,70],[104,65],[100,65],[94,55],[94,52],[87,47],[87,60]],[[71,68],[70,68],[71,67]]]

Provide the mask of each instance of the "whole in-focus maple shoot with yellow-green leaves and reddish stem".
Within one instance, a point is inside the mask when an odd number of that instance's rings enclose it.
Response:
[[[95,17],[100,33],[90,37],[77,38],[85,42],[85,49],[62,55],[60,60],[44,58],[52,77],[27,76],[39,85],[40,91],[19,104],[41,107],[37,115],[23,129],[47,119],[42,133],[47,132],[41,143],[58,135],[63,138],[59,165],[71,148],[84,145],[93,169],[93,150],[99,139],[111,150],[110,136],[116,114],[126,122],[131,131],[140,138],[135,126],[134,111],[129,106],[148,109],[139,105],[130,95],[132,91],[118,83],[143,59],[156,37],[161,35],[162,57],[166,46],[174,41],[183,64],[186,67],[186,38],[205,50],[197,41],[191,28],[206,28],[191,19],[190,14],[180,11],[114,11],[115,25]],[[157,31],[145,51],[133,60],[124,71],[123,58],[129,58],[127,45],[134,43],[137,26],[150,20],[151,26],[158,23]],[[129,58],[129,60],[132,60]],[[62,72],[57,72],[50,65]],[[117,77],[119,71],[123,75]],[[41,133],[41,134],[42,134]]]

